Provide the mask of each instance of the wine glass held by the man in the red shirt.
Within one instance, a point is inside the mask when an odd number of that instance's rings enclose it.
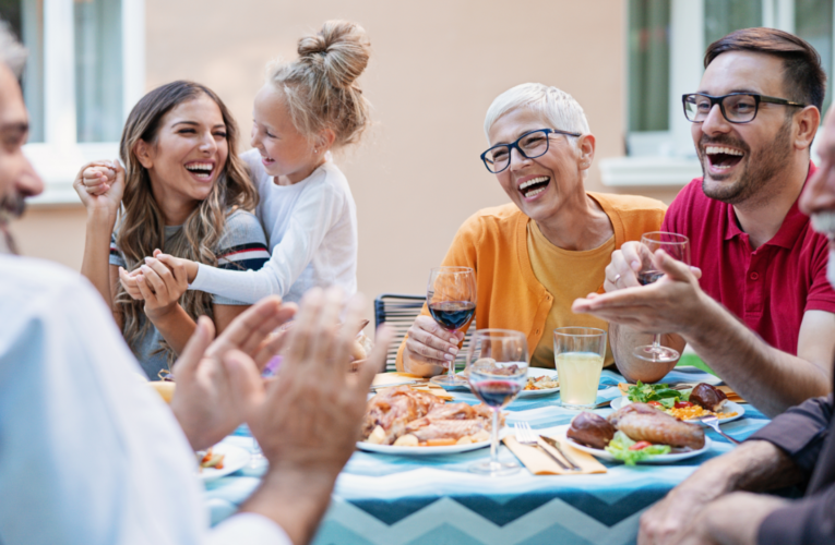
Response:
[[[664,272],[655,268],[653,254],[656,250],[664,250],[667,255],[685,265],[690,265],[690,240],[683,234],[654,231],[641,237],[641,270],[637,271],[637,281],[641,286],[647,286],[658,281]],[[671,348],[661,346],[661,334],[656,334],[652,344],[635,348],[633,355],[647,362],[669,363],[678,360],[681,354]]]

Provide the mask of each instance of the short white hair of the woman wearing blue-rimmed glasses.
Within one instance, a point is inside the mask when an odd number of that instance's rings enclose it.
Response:
[[[574,100],[574,97],[564,90],[541,83],[523,83],[496,97],[493,104],[487,109],[485,134],[488,141],[493,123],[517,108],[527,108],[539,113],[553,125],[550,129],[582,134],[591,132],[583,107]]]

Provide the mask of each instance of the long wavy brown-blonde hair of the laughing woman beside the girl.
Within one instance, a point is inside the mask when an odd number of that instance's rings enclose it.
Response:
[[[186,219],[176,234],[166,241],[165,218],[151,191],[151,175],[136,157],[140,140],[156,144],[157,134],[166,113],[177,106],[205,95],[220,109],[226,125],[226,141],[229,154],[223,171],[208,196],[202,201]],[[124,164],[124,195],[117,223],[116,244],[119,246],[128,270],[141,266],[144,257],[155,249],[193,262],[217,265],[216,245],[226,228],[227,214],[242,208],[253,210],[258,204],[258,192],[237,155],[238,126],[220,98],[207,87],[193,82],[172,82],[152,90],[133,107],[124,123],[120,143],[120,156]],[[212,295],[201,291],[187,291],[180,298],[180,305],[196,319],[201,315],[213,317]],[[133,300],[118,284],[115,308],[122,314],[122,335],[133,347],[150,329],[151,320],[145,319],[144,302]],[[168,366],[175,354],[163,341],[159,351],[166,352]]]

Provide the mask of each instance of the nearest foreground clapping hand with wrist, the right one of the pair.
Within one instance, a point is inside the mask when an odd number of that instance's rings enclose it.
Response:
[[[342,301],[338,289],[305,295],[278,376],[267,386],[243,353],[225,359],[250,429],[270,461],[261,487],[241,511],[271,518],[296,544],[312,537],[336,476],[356,449],[368,390],[392,340],[383,326],[368,361],[349,373],[363,305],[351,300],[345,325],[337,327]]]

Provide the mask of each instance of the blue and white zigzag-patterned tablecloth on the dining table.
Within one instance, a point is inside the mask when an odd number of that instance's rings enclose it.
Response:
[[[598,400],[620,396],[623,378],[604,371]],[[695,367],[677,367],[665,382],[719,384]],[[469,392],[456,400],[475,401]],[[750,404],[725,433],[743,439],[767,419]],[[506,408],[508,424],[526,421],[539,433],[568,424],[574,412],[559,405],[559,395],[523,398]],[[598,410],[603,415],[611,409]],[[241,432],[246,433],[246,432]],[[708,432],[713,448],[689,460],[664,465],[606,463],[599,475],[515,475],[486,477],[467,471],[489,449],[460,455],[399,457],[357,451],[339,475],[317,545],[534,545],[634,543],[641,513],[663,498],[704,461],[729,451],[724,437]],[[251,447],[247,436],[226,439]],[[514,459],[502,446],[503,459]],[[206,487],[212,522],[235,512],[258,486],[263,468],[248,468]]]

